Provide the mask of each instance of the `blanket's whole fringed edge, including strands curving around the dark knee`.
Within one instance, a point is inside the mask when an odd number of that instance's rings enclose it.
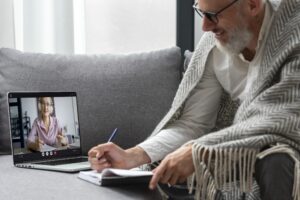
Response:
[[[260,153],[256,149],[214,149],[194,144],[195,173],[188,179],[189,192],[192,193],[195,182],[196,200],[215,200],[217,190],[226,191],[232,187],[239,187],[240,192],[251,192],[256,159],[274,153],[286,153],[294,160],[292,196],[294,200],[300,200],[300,156],[298,152],[284,144]],[[238,198],[239,195],[240,193],[235,193],[231,198]]]

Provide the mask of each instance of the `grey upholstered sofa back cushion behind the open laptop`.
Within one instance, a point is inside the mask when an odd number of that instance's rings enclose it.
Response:
[[[127,55],[57,55],[0,49],[0,152],[10,151],[8,91],[75,91],[82,147],[143,141],[169,109],[179,84],[178,47]]]

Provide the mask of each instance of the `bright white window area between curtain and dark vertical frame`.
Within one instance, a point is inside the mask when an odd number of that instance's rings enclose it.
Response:
[[[176,44],[175,0],[86,0],[86,52],[129,53]]]

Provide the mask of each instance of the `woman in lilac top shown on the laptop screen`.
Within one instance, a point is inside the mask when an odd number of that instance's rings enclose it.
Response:
[[[68,145],[68,140],[64,137],[53,110],[51,97],[38,98],[38,117],[34,120],[27,139],[29,150],[49,151]]]

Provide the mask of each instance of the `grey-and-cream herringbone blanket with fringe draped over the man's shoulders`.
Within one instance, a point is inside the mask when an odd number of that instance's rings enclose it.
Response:
[[[300,200],[300,0],[270,2],[275,10],[274,20],[259,75],[233,125],[193,141],[196,199],[213,200],[216,189],[224,190],[228,183],[233,183],[230,187],[238,185],[242,192],[250,192],[256,159],[283,152],[295,160],[293,197]],[[180,117],[214,46],[213,34],[205,34],[170,111],[152,135]],[[270,148],[260,152],[265,146]]]

